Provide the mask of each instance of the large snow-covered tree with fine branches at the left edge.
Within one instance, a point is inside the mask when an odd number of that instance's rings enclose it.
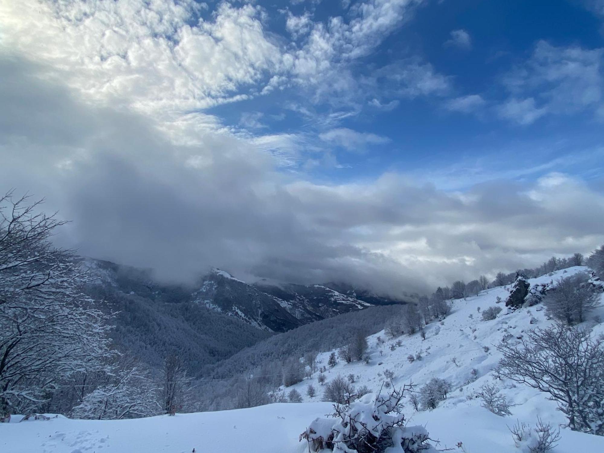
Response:
[[[89,280],[50,236],[63,225],[28,197],[0,198],[0,414],[30,411],[83,371],[103,371],[108,315],[81,291]]]

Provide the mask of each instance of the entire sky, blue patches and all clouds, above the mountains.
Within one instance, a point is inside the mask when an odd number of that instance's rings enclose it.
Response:
[[[602,0],[0,0],[0,191],[193,281],[400,295],[604,243]]]

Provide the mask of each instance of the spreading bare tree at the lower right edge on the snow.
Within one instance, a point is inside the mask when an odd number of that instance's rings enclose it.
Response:
[[[503,376],[550,394],[574,431],[604,435],[604,338],[556,324],[497,349]]]

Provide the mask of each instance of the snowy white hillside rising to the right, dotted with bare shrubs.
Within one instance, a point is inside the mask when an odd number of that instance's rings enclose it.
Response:
[[[532,278],[530,284],[556,283],[559,278],[569,277],[577,272],[585,272],[587,268],[575,266],[553,272],[551,275]],[[443,432],[448,432],[451,423],[461,430],[455,442],[463,442],[469,452],[512,452],[516,451],[507,425],[512,425],[516,419],[535,425],[536,417],[551,422],[555,425],[565,423],[564,414],[556,410],[556,403],[547,399],[547,395],[533,388],[515,384],[506,379],[496,379],[493,368],[500,361],[501,355],[496,350],[496,345],[504,338],[507,341],[519,341],[526,332],[535,327],[545,327],[552,321],[547,320],[542,304],[528,309],[519,309],[507,314],[504,306],[509,287],[498,287],[480,292],[478,296],[467,297],[466,300],[452,301],[452,313],[442,323],[432,321],[425,328],[426,339],[419,333],[403,335],[395,339],[387,339],[385,333],[379,332],[368,337],[368,354],[370,363],[352,362],[345,364],[339,361],[335,367],[327,367],[327,382],[340,374],[348,377],[354,374],[353,385],[367,385],[371,391],[378,391],[385,380],[385,371],[393,371],[395,387],[412,381],[417,388],[428,382],[432,377],[448,379],[452,383],[452,392],[447,399],[440,403],[433,411],[413,410],[407,404],[406,414],[412,418],[411,424],[428,423],[429,431],[436,437],[443,439]],[[497,297],[501,303],[497,304]],[[604,297],[602,297],[604,303]],[[503,311],[495,320],[483,321],[481,311],[492,306],[500,306]],[[479,309],[480,308],[480,312]],[[583,327],[593,329],[594,335],[604,333],[604,323],[597,321],[604,319],[604,305],[594,310]],[[400,342],[400,345],[397,345]],[[394,347],[394,350],[391,348]],[[318,356],[323,365],[327,365],[331,351],[326,351]],[[408,356],[421,359],[408,361]],[[473,374],[473,371],[475,370]],[[318,382],[319,373],[307,377],[304,381],[286,388],[286,393],[295,388],[302,395],[304,402],[318,402],[323,397],[323,386]],[[317,390],[314,397],[307,396],[309,384]],[[476,397],[480,387],[484,384],[496,384],[501,393],[512,404],[511,417],[499,417],[490,413],[481,406],[481,399]],[[465,428],[463,428],[463,425]],[[481,444],[477,434],[472,430],[476,426],[483,435],[490,437],[490,443]],[[433,427],[433,428],[431,428]],[[443,431],[444,430],[444,431]],[[462,435],[462,432],[466,435]],[[564,449],[568,439],[576,436],[588,437],[597,449]],[[568,429],[562,430],[562,439],[559,448],[554,452],[574,451],[604,451],[604,437],[580,435]],[[452,441],[453,439],[451,439]],[[454,447],[451,443],[449,447]]]

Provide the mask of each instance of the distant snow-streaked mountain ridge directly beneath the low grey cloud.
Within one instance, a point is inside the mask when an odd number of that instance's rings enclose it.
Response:
[[[213,269],[186,288],[158,283],[150,269],[93,259],[83,263],[97,277],[97,286],[169,303],[198,304],[266,332],[286,332],[353,310],[403,302],[344,284],[248,284],[220,269]]]

